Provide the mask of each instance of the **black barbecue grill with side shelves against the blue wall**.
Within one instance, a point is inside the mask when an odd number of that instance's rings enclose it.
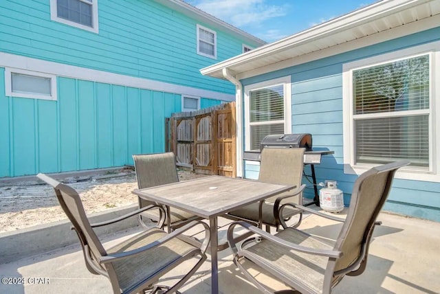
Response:
[[[309,164],[311,169],[311,178],[314,184],[315,197],[314,201],[307,203],[307,205],[316,204],[319,205],[318,188],[316,185],[316,175],[314,164],[321,163],[322,155],[333,154],[330,150],[313,151],[311,148],[311,134],[278,134],[267,135],[261,140],[260,150],[250,150],[243,152],[243,159],[250,161],[261,160],[261,150],[263,148],[305,148],[304,152],[304,164]],[[306,175],[306,177],[309,177]]]

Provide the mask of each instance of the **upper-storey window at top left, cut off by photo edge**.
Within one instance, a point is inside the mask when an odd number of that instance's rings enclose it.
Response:
[[[50,0],[51,19],[98,33],[98,0]]]

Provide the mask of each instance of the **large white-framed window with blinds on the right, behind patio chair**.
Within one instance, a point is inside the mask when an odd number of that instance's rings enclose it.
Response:
[[[364,66],[344,66],[344,161],[350,163],[346,172],[408,159],[410,165],[403,171],[436,173],[432,81],[439,66],[434,52],[417,51],[406,49],[362,60]]]

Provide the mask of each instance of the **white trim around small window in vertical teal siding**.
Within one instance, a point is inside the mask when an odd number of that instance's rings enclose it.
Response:
[[[50,93],[51,95],[40,95],[33,93],[17,93],[12,92],[12,74],[23,74],[28,76],[36,76],[39,78],[50,78]],[[28,71],[25,69],[15,69],[12,67],[5,67],[5,95],[9,97],[32,98],[42,100],[56,100],[56,76],[52,74],[44,74],[38,71]]]

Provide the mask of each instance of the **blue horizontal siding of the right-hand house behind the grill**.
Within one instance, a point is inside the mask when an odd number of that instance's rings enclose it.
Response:
[[[242,80],[243,85],[272,80],[282,76],[292,77],[292,133],[311,133],[314,150],[329,149],[335,154],[322,157],[316,165],[318,183],[326,179],[338,181],[344,191],[344,201],[349,203],[355,174],[344,174],[342,131],[342,65],[353,60],[430,43],[440,40],[440,27],[410,36],[356,49],[303,65],[273,71]],[[245,163],[245,177],[256,179],[259,167]],[[309,167],[305,172],[310,174]],[[305,194],[313,196],[311,184]],[[440,221],[440,183],[395,179],[385,210]]]

